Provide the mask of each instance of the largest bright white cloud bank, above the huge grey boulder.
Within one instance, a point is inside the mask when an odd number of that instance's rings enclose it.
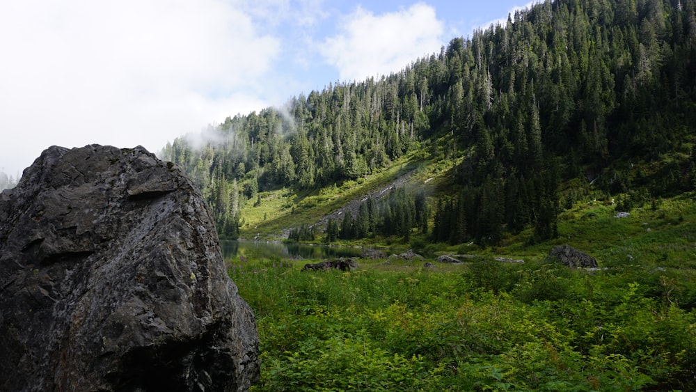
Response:
[[[280,52],[241,1],[0,3],[0,167],[88,143],[153,152],[270,102]]]

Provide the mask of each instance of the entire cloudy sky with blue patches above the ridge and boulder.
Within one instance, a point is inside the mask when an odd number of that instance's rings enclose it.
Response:
[[[226,117],[399,72],[529,0],[3,0],[0,171],[49,146],[159,152]]]

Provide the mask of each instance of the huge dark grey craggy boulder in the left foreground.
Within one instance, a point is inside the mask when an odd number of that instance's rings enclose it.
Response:
[[[0,194],[0,390],[248,389],[255,317],[212,222],[144,148],[45,150]]]

